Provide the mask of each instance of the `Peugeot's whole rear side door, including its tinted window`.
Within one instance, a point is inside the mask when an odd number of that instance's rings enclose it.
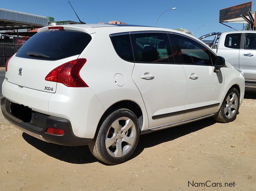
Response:
[[[131,38],[135,57],[132,78],[143,97],[149,127],[182,120],[187,82],[182,65],[173,63],[168,35],[137,32]]]

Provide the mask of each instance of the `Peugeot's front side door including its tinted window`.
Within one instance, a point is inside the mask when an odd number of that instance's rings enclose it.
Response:
[[[224,73],[220,69],[214,72],[216,57],[202,43],[183,35],[170,35],[170,41],[176,47],[176,63],[183,63],[187,80],[187,98],[183,119],[190,119],[214,113],[223,97]]]

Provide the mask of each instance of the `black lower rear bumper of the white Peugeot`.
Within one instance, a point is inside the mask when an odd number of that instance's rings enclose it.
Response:
[[[1,99],[1,109],[3,116],[16,127],[25,133],[41,139],[46,142],[58,145],[88,145],[92,139],[80,138],[74,135],[71,123],[68,119],[49,116],[43,113],[32,111],[30,122],[23,122],[21,119],[13,116],[10,110],[12,102],[6,98]],[[48,127],[63,129],[64,135],[53,135],[46,133]]]

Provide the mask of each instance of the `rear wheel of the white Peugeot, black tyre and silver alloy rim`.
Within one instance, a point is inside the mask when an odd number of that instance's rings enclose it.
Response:
[[[89,144],[92,155],[110,165],[125,162],[134,152],[140,137],[135,114],[128,109],[118,109],[99,125],[95,138]]]

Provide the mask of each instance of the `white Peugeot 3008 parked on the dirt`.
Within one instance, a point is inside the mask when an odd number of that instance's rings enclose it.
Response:
[[[89,145],[118,164],[140,134],[213,116],[231,122],[244,76],[191,35],[146,26],[38,30],[6,63],[1,109],[25,133]]]

